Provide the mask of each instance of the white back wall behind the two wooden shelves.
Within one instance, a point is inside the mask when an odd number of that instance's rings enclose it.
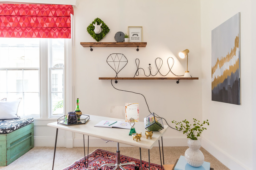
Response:
[[[186,60],[176,58],[178,53],[189,49],[189,71],[199,80],[119,80],[114,86],[118,89],[134,91],[145,96],[149,109],[165,118],[170,125],[172,120],[201,120],[201,39],[200,39],[200,1],[78,1],[74,8],[74,97],[79,98],[80,109],[84,114],[104,116],[110,106],[138,102],[140,121],[149,115],[143,96],[118,91],[111,86],[110,80],[99,77],[115,77],[115,72],[106,63],[112,53],[122,53],[128,64],[119,72],[118,77],[133,77],[136,72],[135,59],[139,58],[140,67],[148,73],[148,64],[156,72],[155,59],[163,60],[162,74],[168,72],[167,58],[173,57],[172,71],[184,74]],[[127,33],[128,26],[143,27],[145,48],[84,48],[80,42],[96,42],[86,31],[87,26],[100,18],[110,28],[110,32],[100,42],[115,42],[117,31]],[[140,76],[142,76],[140,72]],[[144,76],[145,77],[145,76]],[[158,75],[158,77],[161,77]],[[169,74],[169,77],[174,75]],[[184,107],[186,106],[186,107]],[[79,137],[79,135],[77,135]],[[176,130],[168,130],[165,145],[186,145],[186,136]],[[180,138],[184,142],[180,143]]]

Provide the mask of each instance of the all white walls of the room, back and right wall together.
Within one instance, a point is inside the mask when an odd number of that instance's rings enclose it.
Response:
[[[210,126],[203,133],[202,146],[230,169],[256,169],[256,140],[252,127],[255,123],[256,102],[254,95],[256,80],[252,79],[252,68],[256,62],[254,51],[256,35],[253,1],[239,0],[79,0],[74,8],[74,105],[80,99],[83,114],[106,115],[110,106],[121,106],[127,102],[140,104],[140,121],[149,114],[141,95],[115,90],[110,80],[99,77],[115,77],[106,63],[111,53],[122,53],[128,64],[118,77],[133,77],[135,59],[147,71],[148,64],[155,71],[155,58],[166,60],[173,57],[176,74],[183,74],[186,60],[176,58],[178,52],[188,48],[189,71],[199,80],[119,80],[116,88],[139,92],[146,97],[149,109],[164,117],[170,125],[172,120],[208,119]],[[251,7],[250,7],[251,6]],[[253,10],[252,10],[253,9]],[[241,105],[211,101],[211,31],[236,13],[241,12]],[[254,17],[252,17],[254,16]],[[143,26],[145,48],[84,48],[80,42],[96,42],[86,27],[95,18],[102,19],[110,32],[101,42],[114,42],[117,31],[127,32],[128,26]],[[254,55],[254,56],[252,56]],[[148,72],[147,72],[148,73]],[[140,75],[142,73],[140,72]],[[169,74],[170,77],[173,75]],[[159,76],[161,77],[161,76]],[[56,120],[35,120],[35,146],[53,146],[56,129],[47,123]],[[253,139],[252,139],[253,138]],[[164,135],[164,146],[186,146],[186,137],[169,129]],[[82,146],[82,135],[59,130],[58,146]],[[90,138],[90,146],[115,146],[115,144]],[[253,150],[253,151],[252,151]]]

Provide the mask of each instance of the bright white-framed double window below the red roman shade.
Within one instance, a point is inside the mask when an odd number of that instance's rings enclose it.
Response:
[[[64,114],[65,41],[0,38],[0,99],[22,98],[19,116],[48,118]]]

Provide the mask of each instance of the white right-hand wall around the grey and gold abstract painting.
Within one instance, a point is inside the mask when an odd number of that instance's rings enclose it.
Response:
[[[209,128],[204,131],[202,147],[230,169],[253,169],[252,109],[255,112],[255,106],[252,105],[252,99],[255,101],[255,90],[252,85],[255,81],[252,81],[252,61],[255,59],[252,56],[251,35],[255,17],[252,17],[251,2],[201,1],[202,117],[210,121]],[[240,106],[211,101],[211,31],[238,12],[241,12]]]

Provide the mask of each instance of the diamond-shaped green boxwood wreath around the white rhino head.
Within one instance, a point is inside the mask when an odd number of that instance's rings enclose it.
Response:
[[[102,23],[102,31],[99,34],[96,34],[94,32],[94,26],[93,24],[95,24],[95,22],[97,22],[98,25],[100,25],[100,23]],[[103,37],[105,37],[107,35],[107,33],[110,31],[110,29],[108,28],[108,26],[99,18],[96,18],[88,27],[87,27],[87,32],[93,37],[93,39],[95,39],[97,42],[99,42]]]

